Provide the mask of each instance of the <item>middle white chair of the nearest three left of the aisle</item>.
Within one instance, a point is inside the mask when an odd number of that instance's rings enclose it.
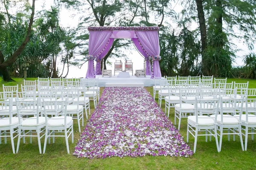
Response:
[[[32,136],[37,136],[39,153],[41,150],[40,139],[45,135],[45,118],[39,116],[39,110],[41,106],[39,105],[39,100],[20,100],[17,99],[17,113],[19,118],[19,137],[17,143],[17,151],[19,151],[20,138],[23,137],[23,143],[25,143],[25,137],[30,137],[30,143],[32,143]],[[33,135],[36,133],[36,135]],[[44,133],[40,136],[40,133]]]

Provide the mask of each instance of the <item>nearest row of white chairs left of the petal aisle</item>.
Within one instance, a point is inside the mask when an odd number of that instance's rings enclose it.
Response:
[[[6,138],[10,137],[13,153],[18,153],[21,138],[25,143],[25,137],[30,137],[30,143],[32,143],[32,137],[37,136],[39,153],[42,153],[40,139],[45,136],[43,150],[45,153],[47,139],[50,143],[50,137],[52,137],[54,143],[55,137],[65,137],[67,153],[69,153],[68,138],[70,135],[73,143],[73,115],[77,114],[78,119],[79,116],[83,116],[82,106],[81,109],[73,107],[73,105],[69,105],[68,99],[43,98],[40,101],[38,98],[26,100],[17,98],[16,106],[12,105],[12,101],[12,97],[9,100],[0,101],[0,144],[2,138],[6,143]],[[55,133],[60,133],[60,135]],[[14,139],[16,137],[18,137],[18,142],[15,152]]]

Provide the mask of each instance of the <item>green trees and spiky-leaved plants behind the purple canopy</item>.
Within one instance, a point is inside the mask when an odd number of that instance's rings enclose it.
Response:
[[[233,38],[251,50],[256,40],[254,0],[56,0],[48,11],[37,11],[29,0],[0,0],[0,73],[11,77],[66,77],[65,67],[83,65],[88,54],[88,26],[159,26],[162,75],[256,77],[255,54],[244,54],[244,66],[232,68],[240,49]],[[181,6],[180,13],[175,7]],[[62,28],[63,8],[81,16],[76,28]],[[36,12],[35,12],[36,11]],[[86,12],[85,12],[86,11]],[[34,14],[35,12],[35,14]],[[32,21],[32,22],[31,22]],[[198,28],[192,29],[192,23]],[[175,25],[172,27],[172,25]],[[127,57],[131,41],[116,39],[105,56]],[[6,70],[7,69],[7,70]]]

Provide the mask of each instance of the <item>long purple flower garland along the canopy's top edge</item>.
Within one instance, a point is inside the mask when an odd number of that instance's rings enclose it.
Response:
[[[88,31],[158,31],[159,27],[88,27]]]

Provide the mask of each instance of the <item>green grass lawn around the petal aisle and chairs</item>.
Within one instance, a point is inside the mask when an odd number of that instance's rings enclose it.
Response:
[[[15,85],[22,84],[22,79],[15,79],[17,82],[0,83],[0,91],[2,91],[2,84]],[[33,79],[31,79],[33,80]],[[247,82],[249,81],[250,88],[256,88],[256,80],[250,79],[228,79],[228,82]],[[101,92],[104,88],[101,88]],[[152,87],[146,87],[146,89],[153,94]],[[156,101],[158,99],[156,98]],[[91,113],[93,113],[93,105],[90,105]],[[164,111],[164,103],[162,104]],[[89,116],[90,117],[90,116]],[[86,118],[84,118],[86,120]],[[171,110],[169,119],[174,122],[174,109]],[[180,133],[186,139],[186,125],[187,120],[182,119]],[[85,121],[86,123],[86,121]],[[176,126],[177,127],[177,126]],[[83,129],[83,127],[81,128]],[[44,155],[39,154],[37,138],[32,138],[32,144],[29,144],[29,139],[26,139],[26,143],[21,141],[18,154],[12,153],[11,142],[8,139],[7,144],[0,144],[0,169],[111,169],[111,170],[133,170],[133,169],[184,169],[184,170],[215,170],[215,169],[256,169],[256,142],[250,138],[248,140],[247,151],[241,150],[239,137],[236,137],[236,141],[227,140],[227,136],[224,136],[222,142],[221,152],[218,153],[215,145],[215,139],[212,142],[205,142],[204,136],[198,137],[196,153],[190,158],[175,158],[169,156],[144,156],[138,158],[131,157],[112,157],[107,159],[77,159],[72,156],[76,142],[79,139],[80,133],[78,132],[77,122],[74,121],[74,143],[70,144],[70,153],[67,154],[66,144],[64,138],[56,138],[55,144],[47,144],[46,153]],[[44,142],[44,139],[41,140]],[[189,137],[189,146],[193,149],[194,138]],[[17,139],[15,139],[15,147],[17,145]],[[43,146],[43,144],[42,144]]]

